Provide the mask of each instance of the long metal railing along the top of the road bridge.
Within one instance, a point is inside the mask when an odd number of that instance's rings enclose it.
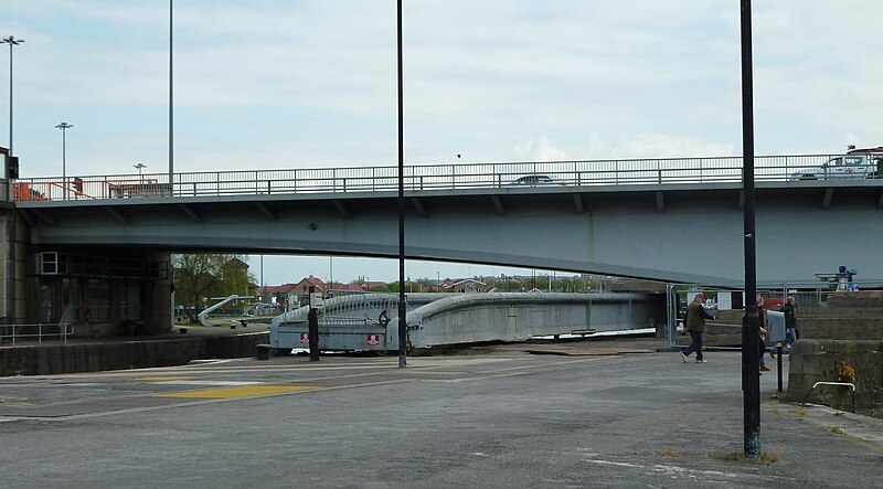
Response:
[[[755,159],[755,180],[880,178],[876,167],[838,176],[818,176],[842,155],[764,156]],[[883,155],[872,155],[874,164]],[[868,161],[871,161],[870,159]],[[742,157],[451,163],[405,167],[408,191],[482,188],[592,187],[741,182]],[[14,183],[17,201],[104,200],[201,195],[255,195],[318,192],[381,192],[398,189],[398,167],[238,170],[168,174],[32,178]]]

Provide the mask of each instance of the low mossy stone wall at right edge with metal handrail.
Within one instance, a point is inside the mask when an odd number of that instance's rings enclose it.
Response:
[[[816,382],[838,382],[843,365],[855,371],[855,412],[883,417],[883,340],[798,340],[791,347],[787,398],[801,402]],[[849,387],[821,385],[807,402],[850,410]]]

